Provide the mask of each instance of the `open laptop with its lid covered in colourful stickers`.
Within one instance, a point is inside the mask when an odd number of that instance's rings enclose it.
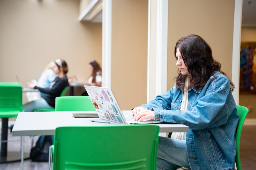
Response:
[[[84,85],[84,88],[87,91],[100,119],[120,124],[161,123],[160,121],[151,121],[150,119],[134,121],[133,116],[125,116],[122,113],[111,88],[88,85]]]

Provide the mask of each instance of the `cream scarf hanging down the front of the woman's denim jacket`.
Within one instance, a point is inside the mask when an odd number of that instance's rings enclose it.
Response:
[[[188,109],[188,89],[187,89],[188,86],[189,86],[189,78],[186,78],[185,85],[184,85],[183,99],[182,99],[181,106],[180,106],[180,110],[184,110],[184,111],[187,111],[187,109]],[[185,132],[172,132],[171,138],[185,140],[186,133]]]

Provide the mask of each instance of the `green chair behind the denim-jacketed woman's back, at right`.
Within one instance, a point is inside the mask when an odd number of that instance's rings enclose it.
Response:
[[[244,125],[244,120],[248,113],[247,107],[236,105],[237,114],[239,116],[239,122],[236,129],[236,168],[237,170],[242,170],[241,160],[240,160],[240,138],[242,133],[242,128]]]

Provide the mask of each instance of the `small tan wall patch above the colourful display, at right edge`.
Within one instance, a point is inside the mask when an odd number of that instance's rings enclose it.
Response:
[[[256,27],[242,27],[241,42],[256,42]]]

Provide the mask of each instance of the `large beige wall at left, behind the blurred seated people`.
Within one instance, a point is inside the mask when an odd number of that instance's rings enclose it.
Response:
[[[102,24],[78,22],[78,0],[0,1],[0,81],[23,86],[38,79],[50,61],[67,61],[68,76],[89,77],[88,63],[101,63]]]

